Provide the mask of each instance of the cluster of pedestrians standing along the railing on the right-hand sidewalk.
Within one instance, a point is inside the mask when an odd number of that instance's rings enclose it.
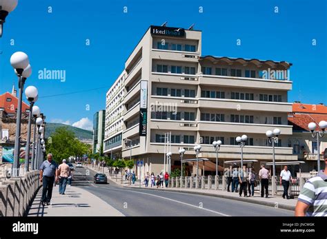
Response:
[[[242,194],[245,197],[254,196],[255,187],[257,187],[258,181],[261,184],[261,198],[268,198],[268,185],[269,185],[270,172],[266,169],[265,165],[261,165],[259,174],[255,172],[253,167],[247,171],[246,166],[242,169],[233,168],[232,170],[228,169],[227,175],[227,191],[230,191],[230,185],[232,186],[232,192],[238,192],[239,196]],[[289,199],[288,188],[290,187],[290,182],[293,178],[288,170],[288,167],[285,165],[284,169],[281,171],[279,183],[283,185],[284,192],[283,198]],[[239,187],[239,190],[238,190]]]

